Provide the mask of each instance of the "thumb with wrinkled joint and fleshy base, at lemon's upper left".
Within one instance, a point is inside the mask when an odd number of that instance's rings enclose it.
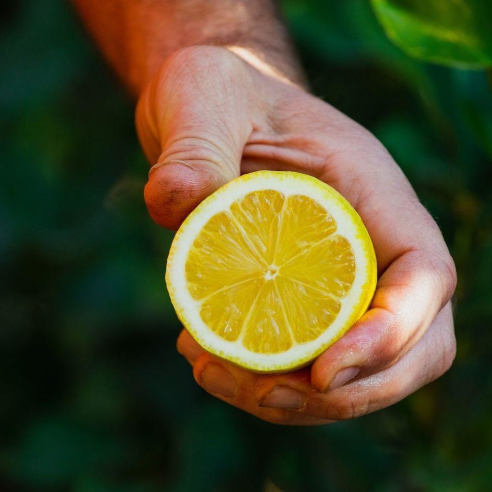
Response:
[[[240,174],[252,131],[242,64],[220,48],[182,50],[139,100],[137,131],[153,164],[145,203],[168,229],[177,229],[204,198]]]

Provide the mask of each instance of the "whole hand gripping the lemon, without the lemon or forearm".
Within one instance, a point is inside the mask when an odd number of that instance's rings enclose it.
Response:
[[[379,281],[369,311],[310,368],[255,374],[204,352],[183,330],[178,350],[206,391],[269,422],[313,425],[391,405],[449,369],[454,263],[367,130],[251,53],[200,46],[164,63],[140,97],[136,124],[154,164],[145,201],[162,226],[179,227],[241,173],[290,170],[335,187],[374,243]]]

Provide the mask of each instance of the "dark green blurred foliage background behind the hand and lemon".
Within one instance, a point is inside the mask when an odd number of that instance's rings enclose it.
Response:
[[[172,235],[146,213],[132,102],[68,4],[4,3],[0,491],[491,490],[491,79],[410,58],[366,0],[283,5],[314,92],[383,141],[441,226],[453,368],[320,428],[202,391],[175,350]]]

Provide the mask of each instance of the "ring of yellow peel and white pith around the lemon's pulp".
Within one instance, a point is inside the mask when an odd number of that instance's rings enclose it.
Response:
[[[312,196],[314,194],[315,199],[320,199],[317,201],[321,202],[321,205],[325,205],[329,202],[331,207],[327,208],[327,210],[331,215],[334,215],[334,208],[338,208],[338,212],[335,214],[338,229],[342,223],[345,223],[352,231],[352,234],[350,234],[347,239],[351,242],[352,247],[355,247],[357,250],[359,261],[356,262],[356,282],[359,278],[360,296],[358,301],[352,306],[350,312],[345,315],[345,322],[339,326],[337,330],[332,330],[334,333],[331,337],[325,337],[325,333],[331,329],[330,326],[317,340],[307,344],[298,344],[294,349],[289,349],[285,353],[272,355],[256,354],[249,352],[244,347],[238,349],[238,346],[234,343],[218,340],[219,337],[215,335],[215,333],[208,329],[203,322],[200,323],[198,321],[199,315],[196,312],[196,304],[194,304],[193,301],[190,301],[191,298],[188,299],[186,296],[184,262],[193,238],[196,237],[201,226],[203,226],[211,216],[227,209],[231,200],[234,201],[253,190],[277,189],[278,191],[283,192],[281,184],[287,186],[292,184],[296,193],[306,194],[307,196]],[[225,199],[224,203],[222,203],[222,198]],[[186,239],[183,241],[185,237]],[[364,258],[363,261],[361,261],[362,258]],[[360,270],[360,263],[365,264],[363,271]],[[166,284],[171,302],[175,307],[179,319],[192,337],[205,350],[217,357],[256,372],[283,372],[298,369],[309,364],[309,362],[321,352],[341,338],[366,312],[375,290],[376,281],[376,257],[369,238],[369,233],[361,218],[347,200],[334,188],[311,176],[295,172],[279,171],[257,171],[255,173],[243,175],[228,184],[225,184],[200,203],[200,205],[186,217],[182,226],[176,233],[169,251],[166,268]],[[202,326],[202,324],[204,326]],[[326,339],[321,341],[320,339],[323,337]],[[221,349],[219,345],[225,346],[227,349]],[[307,345],[311,348],[303,350],[303,347],[306,347]],[[298,355],[291,355],[288,357],[287,354],[293,350],[294,353],[298,352]],[[244,354],[239,355],[238,352],[244,352]]]

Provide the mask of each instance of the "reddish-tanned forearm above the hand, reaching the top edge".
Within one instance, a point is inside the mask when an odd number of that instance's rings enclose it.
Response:
[[[186,46],[241,46],[303,81],[271,0],[72,0],[103,55],[138,95],[159,65]]]

